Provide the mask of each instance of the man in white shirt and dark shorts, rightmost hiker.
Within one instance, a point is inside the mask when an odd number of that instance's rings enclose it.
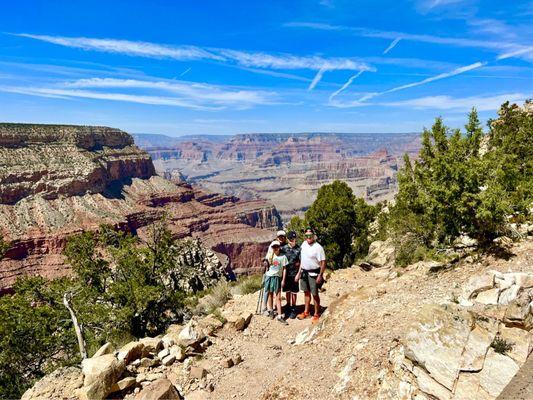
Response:
[[[298,315],[298,319],[310,317],[309,308],[311,295],[313,295],[315,313],[311,322],[316,324],[320,318],[320,296],[318,288],[324,282],[326,270],[326,254],[324,248],[316,241],[315,233],[311,228],[305,230],[305,241],[301,246],[300,269],[295,280],[300,281],[300,290],[305,295],[304,312]]]

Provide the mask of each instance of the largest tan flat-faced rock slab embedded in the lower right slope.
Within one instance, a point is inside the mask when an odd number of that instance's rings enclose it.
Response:
[[[452,390],[471,326],[472,316],[458,305],[424,305],[405,336],[405,355]]]

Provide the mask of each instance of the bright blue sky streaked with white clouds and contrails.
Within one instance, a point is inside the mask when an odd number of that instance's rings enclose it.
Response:
[[[4,1],[0,121],[407,132],[533,97],[533,1]]]

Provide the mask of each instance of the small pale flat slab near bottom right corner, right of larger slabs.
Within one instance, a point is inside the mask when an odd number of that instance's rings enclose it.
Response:
[[[479,373],[479,384],[489,395],[497,397],[518,369],[518,365],[510,357],[498,354],[491,348]]]

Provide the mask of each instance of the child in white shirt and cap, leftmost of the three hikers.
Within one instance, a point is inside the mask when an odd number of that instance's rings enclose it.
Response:
[[[285,282],[285,266],[288,264],[287,257],[280,254],[281,244],[277,240],[272,242],[273,254],[270,260],[270,266],[265,276],[265,292],[268,295],[267,307],[268,315],[274,318],[274,301],[276,302],[276,309],[278,316],[276,319],[282,324],[287,325],[287,321],[281,315],[281,286]]]

